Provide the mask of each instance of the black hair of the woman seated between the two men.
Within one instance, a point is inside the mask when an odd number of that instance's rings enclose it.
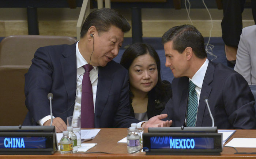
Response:
[[[141,55],[145,55],[147,53],[151,57],[153,57],[153,59],[155,60],[155,63],[157,64],[157,71],[158,71],[158,81],[157,81],[157,85],[155,86],[156,89],[153,88],[151,91],[159,90],[159,94],[164,93],[165,91],[163,91],[163,90],[164,90],[166,84],[164,84],[162,82],[162,79],[161,79],[160,59],[159,59],[159,56],[158,56],[157,52],[155,51],[155,49],[151,45],[143,44],[143,43],[135,43],[135,44],[130,45],[124,51],[124,54],[123,54],[123,56],[121,58],[121,61],[120,61],[120,64],[123,65],[127,70],[129,70],[132,62],[137,57],[139,57]],[[131,98],[133,98],[133,94],[132,94],[131,91],[129,91],[129,95],[130,95],[130,100],[131,100]]]

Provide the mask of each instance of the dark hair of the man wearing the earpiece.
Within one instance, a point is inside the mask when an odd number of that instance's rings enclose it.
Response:
[[[107,32],[112,25],[121,29],[124,33],[131,29],[125,17],[114,9],[101,8],[95,10],[84,21],[80,36],[83,37],[91,26],[94,26],[100,33]]]

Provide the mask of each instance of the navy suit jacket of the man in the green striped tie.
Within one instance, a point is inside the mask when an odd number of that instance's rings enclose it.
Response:
[[[188,105],[188,77],[174,78],[172,82],[173,97],[163,113],[167,120],[173,120],[172,126],[184,125]],[[222,64],[209,60],[203,80],[196,126],[211,126],[211,118],[204,102],[209,99],[210,110],[219,129],[255,129],[255,101],[248,83],[239,73]]]

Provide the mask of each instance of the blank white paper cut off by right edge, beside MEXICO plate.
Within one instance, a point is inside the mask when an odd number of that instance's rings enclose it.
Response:
[[[256,148],[256,138],[233,138],[225,146]]]

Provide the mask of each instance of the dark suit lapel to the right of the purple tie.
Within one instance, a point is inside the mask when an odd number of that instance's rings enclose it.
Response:
[[[100,119],[100,116],[106,106],[110,88],[113,82],[113,77],[112,77],[113,72],[109,70],[110,68],[108,68],[107,66],[99,67],[97,96],[96,96],[96,102],[95,102],[95,115],[94,115],[95,127],[99,126],[100,121],[97,119]]]

